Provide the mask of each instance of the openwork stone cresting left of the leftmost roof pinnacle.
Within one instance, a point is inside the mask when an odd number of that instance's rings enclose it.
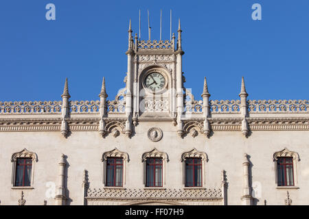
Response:
[[[62,101],[0,101],[0,114],[60,114]]]

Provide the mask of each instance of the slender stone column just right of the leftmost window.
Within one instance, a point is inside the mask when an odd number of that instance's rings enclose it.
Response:
[[[67,163],[65,162],[65,155],[62,154],[59,162],[59,177],[55,196],[55,205],[65,205],[65,201],[67,199],[65,197],[65,166],[67,166]]]

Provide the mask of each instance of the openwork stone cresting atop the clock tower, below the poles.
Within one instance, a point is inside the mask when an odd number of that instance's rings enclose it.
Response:
[[[174,40],[138,40],[137,50],[174,50]]]

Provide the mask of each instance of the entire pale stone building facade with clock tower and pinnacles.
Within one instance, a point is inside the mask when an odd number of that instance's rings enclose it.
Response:
[[[130,25],[114,100],[0,102],[0,204],[308,205],[308,101],[194,99],[177,32]]]

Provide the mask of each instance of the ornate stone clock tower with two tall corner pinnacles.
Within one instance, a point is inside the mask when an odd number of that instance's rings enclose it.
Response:
[[[126,75],[126,132],[139,121],[170,120],[183,132],[183,72],[181,23],[178,39],[141,40],[128,29],[128,72]]]

